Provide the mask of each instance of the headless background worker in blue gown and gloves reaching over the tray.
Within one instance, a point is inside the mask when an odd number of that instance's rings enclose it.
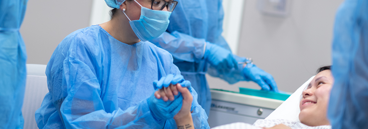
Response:
[[[198,103],[209,114],[211,94],[205,74],[234,84],[254,81],[263,90],[277,92],[272,75],[248,58],[231,54],[222,33],[222,0],[178,0],[170,24],[160,37],[150,40],[169,51],[185,80],[198,93]]]

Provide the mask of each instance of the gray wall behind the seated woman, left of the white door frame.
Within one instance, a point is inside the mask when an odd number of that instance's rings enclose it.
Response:
[[[27,63],[47,64],[68,34],[89,26],[92,0],[29,0],[20,32]]]

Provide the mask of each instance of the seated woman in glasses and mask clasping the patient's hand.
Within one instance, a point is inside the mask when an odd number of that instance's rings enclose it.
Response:
[[[79,29],[47,63],[49,93],[36,111],[40,129],[172,129],[182,97],[156,99],[157,89],[184,80],[171,54],[148,42],[162,34],[177,1],[105,0],[112,19]],[[190,90],[194,98],[195,90]],[[167,98],[166,98],[167,99]],[[194,127],[208,129],[193,100]]]

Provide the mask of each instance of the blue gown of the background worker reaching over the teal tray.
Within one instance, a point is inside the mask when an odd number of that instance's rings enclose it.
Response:
[[[226,73],[209,66],[203,59],[206,43],[213,43],[229,51],[222,33],[223,8],[222,0],[177,0],[178,5],[170,16],[169,27],[160,37],[151,42],[166,49],[174,57],[174,64],[179,67],[185,80],[192,83],[198,92],[198,103],[209,114],[211,93],[205,74],[220,77],[234,84],[247,80],[240,69],[227,70]],[[234,55],[238,62],[245,58]],[[247,80],[249,81],[249,80]]]

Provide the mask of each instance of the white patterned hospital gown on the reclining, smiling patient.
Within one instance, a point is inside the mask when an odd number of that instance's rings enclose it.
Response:
[[[254,122],[253,125],[242,122],[236,122],[227,125],[217,126],[213,129],[262,129],[263,127],[270,128],[279,124],[284,124],[290,127],[291,129],[331,129],[330,125],[312,127],[304,125],[300,122],[289,121],[284,119],[268,119],[268,120],[258,119],[256,122]]]

